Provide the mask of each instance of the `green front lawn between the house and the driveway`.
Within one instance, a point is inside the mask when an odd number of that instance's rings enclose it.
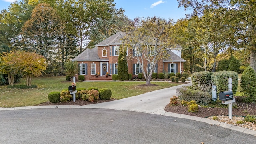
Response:
[[[33,78],[32,84],[37,85],[37,88],[16,89],[7,88],[7,86],[0,86],[0,107],[36,106],[38,104],[47,102],[48,94],[50,92],[61,92],[61,90],[67,89],[71,83],[72,82],[66,81],[65,76],[58,76]],[[134,81],[76,82],[76,88],[110,88],[112,91],[111,98],[122,99],[181,84],[170,84],[169,82],[154,81],[151,83],[157,84],[158,86],[138,86],[145,83],[146,82]],[[26,84],[26,79],[22,78],[18,84]]]

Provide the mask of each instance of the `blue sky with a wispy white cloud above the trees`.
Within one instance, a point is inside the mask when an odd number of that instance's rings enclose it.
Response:
[[[0,0],[0,10],[8,9],[11,2],[15,0]],[[186,18],[185,14],[190,14],[192,11],[184,11],[184,8],[178,8],[177,0],[114,0],[116,8],[123,8],[124,14],[128,18],[136,17],[152,17],[173,18],[178,20]]]

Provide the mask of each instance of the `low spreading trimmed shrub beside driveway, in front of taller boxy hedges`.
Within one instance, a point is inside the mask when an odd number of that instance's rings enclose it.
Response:
[[[180,100],[190,102],[195,100],[197,104],[207,106],[212,101],[212,96],[208,92],[193,90],[187,87],[177,88],[177,96]]]

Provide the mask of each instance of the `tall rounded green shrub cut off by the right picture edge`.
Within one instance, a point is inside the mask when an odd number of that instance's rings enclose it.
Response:
[[[241,76],[241,92],[247,97],[246,102],[256,102],[256,73],[252,67],[247,67]]]

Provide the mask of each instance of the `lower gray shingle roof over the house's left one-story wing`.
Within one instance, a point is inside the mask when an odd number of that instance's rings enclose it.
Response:
[[[86,49],[81,54],[72,59],[72,61],[100,61],[98,57],[98,47]]]

